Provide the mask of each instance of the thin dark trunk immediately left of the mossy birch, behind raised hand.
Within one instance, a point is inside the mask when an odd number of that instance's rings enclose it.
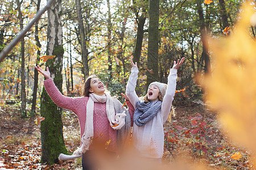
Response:
[[[38,4],[36,5],[36,11],[38,12],[40,10],[40,3],[41,0],[38,0]],[[38,22],[35,23],[35,40],[36,40],[36,46],[38,47],[38,52],[36,54],[36,65],[40,62],[40,48],[41,44],[38,37]],[[32,107],[31,107],[31,116],[34,116],[35,110],[36,110],[36,97],[38,92],[38,70],[34,69],[34,89],[33,89],[33,99],[32,99]]]

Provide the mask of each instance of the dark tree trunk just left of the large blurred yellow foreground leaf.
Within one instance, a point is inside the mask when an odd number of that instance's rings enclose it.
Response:
[[[199,20],[200,20],[201,41],[203,44],[202,57],[203,57],[204,64],[205,64],[204,72],[208,73],[210,71],[210,57],[208,54],[208,49],[207,49],[208,45],[207,45],[207,40],[206,40],[207,28],[205,26],[203,8],[201,6],[201,0],[196,0],[196,3],[197,3],[197,12],[199,14]]]

